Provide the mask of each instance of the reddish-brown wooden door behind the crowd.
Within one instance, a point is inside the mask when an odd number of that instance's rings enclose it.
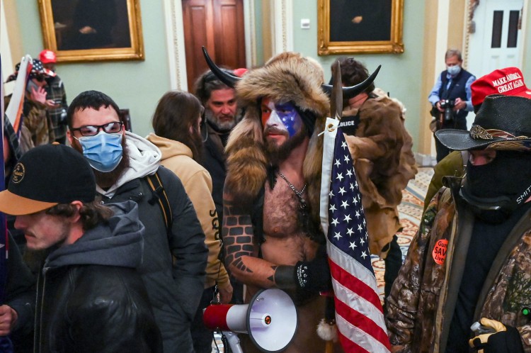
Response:
[[[188,91],[207,64],[201,47],[221,67],[245,67],[243,0],[182,0]]]

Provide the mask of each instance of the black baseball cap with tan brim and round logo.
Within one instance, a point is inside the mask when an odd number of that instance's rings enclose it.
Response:
[[[58,203],[89,203],[96,196],[96,179],[89,162],[72,147],[35,147],[13,168],[7,190],[0,192],[0,212],[28,215]]]

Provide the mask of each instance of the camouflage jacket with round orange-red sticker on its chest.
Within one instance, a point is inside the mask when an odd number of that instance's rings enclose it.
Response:
[[[406,262],[387,301],[389,339],[399,352],[445,352],[451,337],[474,216],[453,195],[462,182],[447,179],[423,215]],[[491,318],[520,332],[531,353],[531,211],[515,225],[498,251],[481,290],[474,320]]]

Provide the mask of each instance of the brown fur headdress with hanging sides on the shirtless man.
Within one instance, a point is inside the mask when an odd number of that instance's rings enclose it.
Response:
[[[263,67],[247,72],[236,85],[239,104],[246,109],[243,120],[236,125],[227,142],[227,179],[225,190],[235,204],[250,206],[258,196],[267,177],[268,160],[263,145],[263,128],[258,99],[268,96],[277,102],[292,101],[316,116],[314,133],[304,159],[312,215],[319,219],[319,189],[324,130],[329,111],[329,98],[321,89],[323,72],[314,62],[295,52],[283,52]]]

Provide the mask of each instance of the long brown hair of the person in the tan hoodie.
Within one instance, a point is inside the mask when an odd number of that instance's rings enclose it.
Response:
[[[166,92],[155,109],[152,121],[154,133],[188,146],[193,159],[200,162],[202,140],[198,118],[202,110],[200,101],[193,94],[185,91]],[[193,130],[191,134],[190,128]]]

